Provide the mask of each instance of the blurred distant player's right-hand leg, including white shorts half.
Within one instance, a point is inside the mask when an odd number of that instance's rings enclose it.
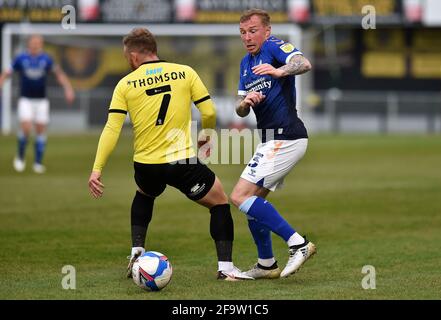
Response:
[[[46,129],[49,123],[49,100],[39,99],[35,103],[35,157],[34,157],[34,172],[44,173],[46,171],[43,165],[43,156],[46,149]]]

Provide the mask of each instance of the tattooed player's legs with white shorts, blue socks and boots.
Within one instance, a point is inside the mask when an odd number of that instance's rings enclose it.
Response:
[[[306,147],[307,139],[284,141],[283,143],[273,141],[260,145],[253,160],[242,173],[231,194],[233,204],[247,214],[251,221],[255,220],[250,225],[250,231],[258,246],[259,260],[256,267],[265,270],[265,268],[271,267],[275,269],[277,266],[273,259],[268,258],[272,255],[272,250],[267,229],[287,242],[290,248],[290,259],[287,264],[289,268],[285,267],[281,276],[287,276],[295,272],[304,262],[297,257],[296,260],[300,261],[301,264],[298,265],[297,262],[292,264],[291,256],[299,248],[308,246],[308,241],[291,227],[272,204],[264,199],[265,197],[262,197],[262,195],[266,196],[268,194],[267,191],[262,191],[262,189],[274,191],[283,182],[283,178],[294,165],[303,157]],[[262,226],[267,229],[262,228]],[[309,251],[309,255],[313,254],[312,251],[315,252],[315,247],[310,248]],[[273,262],[274,265],[270,266]],[[261,273],[265,275],[268,272],[262,271]]]

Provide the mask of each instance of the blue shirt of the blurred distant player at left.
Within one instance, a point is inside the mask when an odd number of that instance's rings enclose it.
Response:
[[[46,97],[46,76],[52,71],[52,58],[41,53],[32,56],[29,53],[19,54],[12,63],[12,68],[20,74],[20,95],[27,98]]]

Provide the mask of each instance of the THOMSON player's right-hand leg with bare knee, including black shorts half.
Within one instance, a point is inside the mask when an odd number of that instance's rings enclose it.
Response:
[[[210,211],[210,235],[218,258],[218,279],[251,280],[233,264],[234,224],[220,180],[200,161],[170,166],[170,185]]]

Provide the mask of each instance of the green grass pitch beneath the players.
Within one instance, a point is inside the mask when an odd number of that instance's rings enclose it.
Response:
[[[440,299],[441,139],[439,136],[310,138],[305,158],[269,200],[317,255],[287,279],[216,280],[208,211],[167,188],[156,200],[147,249],[166,254],[171,283],[148,293],[126,279],[132,139],[123,134],[104,171],[102,199],[87,180],[97,134],[50,135],[48,172],[16,173],[15,137],[0,137],[0,299]],[[210,165],[231,192],[243,165]],[[233,257],[241,269],[256,250],[246,219],[232,209]],[[273,236],[281,267],[288,254]],[[62,267],[76,270],[64,290]],[[376,289],[362,288],[364,265]]]

